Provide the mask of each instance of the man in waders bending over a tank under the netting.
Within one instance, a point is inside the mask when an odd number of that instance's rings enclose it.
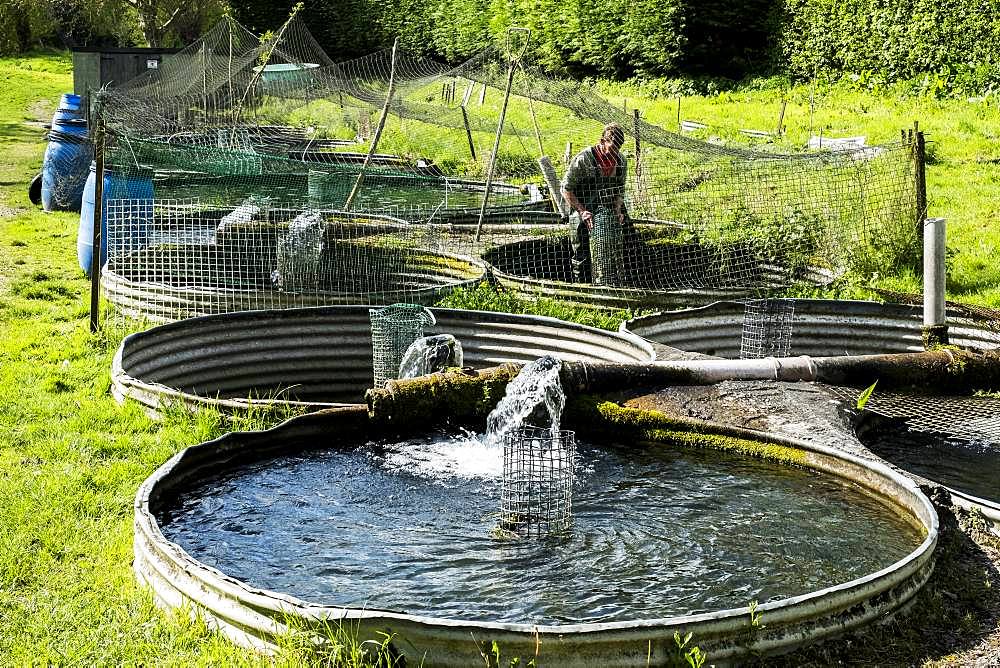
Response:
[[[562,195],[570,207],[573,280],[612,285],[621,280],[626,235],[631,221],[625,212],[625,175],[621,154],[625,132],[610,123],[597,146],[580,151],[569,163]],[[595,258],[591,258],[591,236]]]

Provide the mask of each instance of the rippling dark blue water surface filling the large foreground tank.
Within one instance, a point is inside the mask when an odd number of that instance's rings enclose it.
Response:
[[[539,624],[744,607],[875,572],[922,540],[835,478],[587,443],[571,530],[501,540],[501,467],[469,435],[306,451],[204,480],[160,524],[199,561],[311,602]]]

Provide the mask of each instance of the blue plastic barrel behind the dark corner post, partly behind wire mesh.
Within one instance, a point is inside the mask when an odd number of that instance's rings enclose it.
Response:
[[[83,189],[80,208],[80,227],[76,236],[76,257],[80,268],[90,276],[90,263],[94,257],[94,190],[97,184],[97,167],[91,163],[90,176]],[[153,172],[144,169],[104,170],[104,215],[101,216],[101,265],[108,260],[108,201],[131,200],[116,203],[114,226],[110,244],[111,254],[127,253],[146,245],[149,227],[153,221]]]

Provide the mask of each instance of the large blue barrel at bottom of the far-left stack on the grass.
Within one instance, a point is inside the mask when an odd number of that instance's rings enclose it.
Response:
[[[42,159],[42,208],[79,211],[92,159],[87,121],[62,120],[53,125]]]

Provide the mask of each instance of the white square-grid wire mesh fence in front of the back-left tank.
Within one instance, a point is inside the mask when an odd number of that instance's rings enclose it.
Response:
[[[111,199],[102,291],[125,317],[165,322],[251,309],[432,304],[482,279],[439,230],[382,215],[250,197]]]

